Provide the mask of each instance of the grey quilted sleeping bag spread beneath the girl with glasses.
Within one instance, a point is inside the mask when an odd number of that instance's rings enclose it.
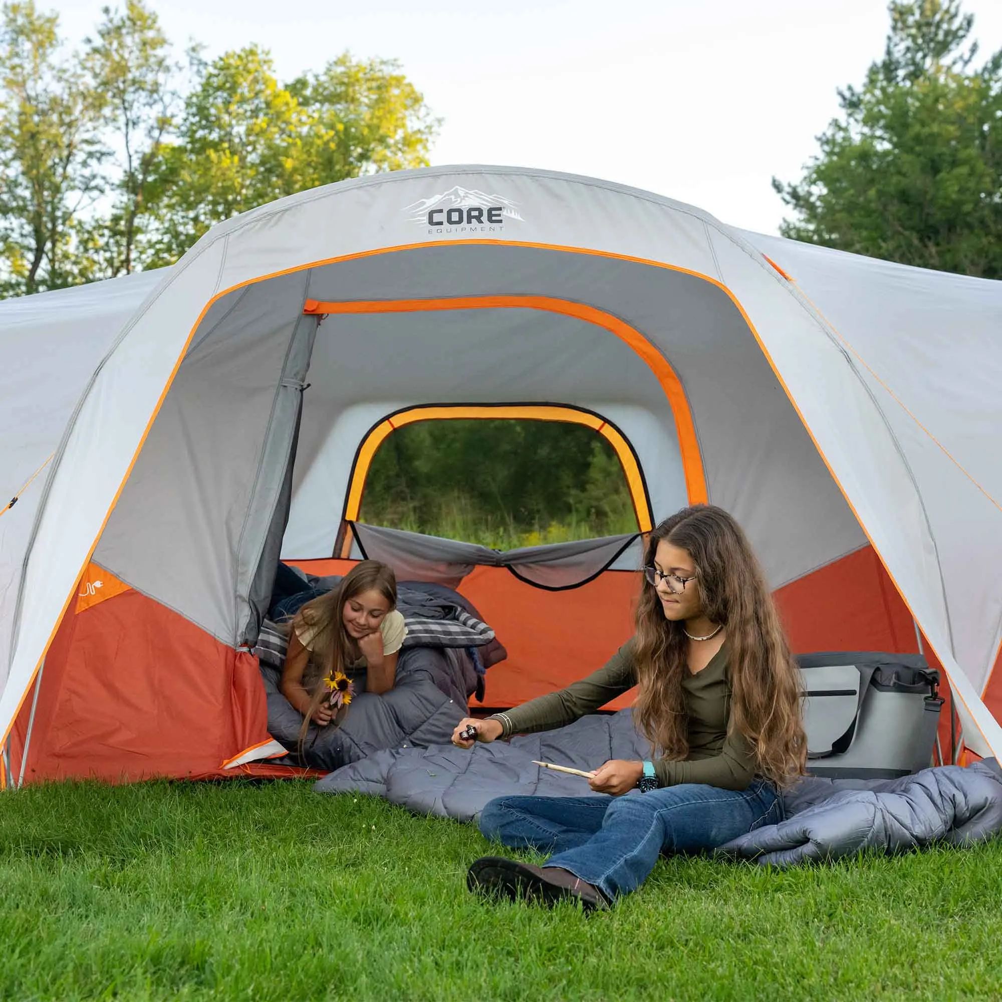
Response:
[[[384,749],[332,773],[314,790],[368,794],[416,814],[475,821],[495,797],[591,793],[581,777],[541,769],[533,759],[589,770],[609,759],[649,754],[625,709],[468,752],[452,744]],[[721,852],[791,866],[863,849],[902,852],[936,841],[984,840],[1002,831],[1002,773],[990,761],[968,769],[927,769],[897,780],[807,777],[786,793],[784,807],[785,821],[757,829]]]

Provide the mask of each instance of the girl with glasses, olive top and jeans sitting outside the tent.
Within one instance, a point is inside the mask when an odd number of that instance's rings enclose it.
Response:
[[[501,797],[490,839],[553,855],[542,867],[484,857],[471,891],[603,908],[636,890],[658,854],[714,849],[783,820],[780,789],[804,773],[801,685],[759,562],[737,523],[694,505],[649,536],[636,633],[605,667],[486,719],[479,741],[558,727],[638,686],[633,716],[652,762],[606,762],[590,797]],[[558,764],[559,765],[559,764]]]

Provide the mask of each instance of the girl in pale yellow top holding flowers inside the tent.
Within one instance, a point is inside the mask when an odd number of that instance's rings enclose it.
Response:
[[[333,591],[314,598],[293,618],[282,669],[282,693],[310,721],[326,726],[335,680],[369,692],[393,688],[397,658],[407,636],[397,609],[397,578],[386,564],[363,560]],[[347,705],[347,702],[345,703]]]

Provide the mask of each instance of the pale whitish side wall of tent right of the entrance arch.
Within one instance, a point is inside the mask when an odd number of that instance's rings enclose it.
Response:
[[[983,690],[1002,639],[1002,283],[744,235],[828,322],[887,421],[935,546],[942,628]]]

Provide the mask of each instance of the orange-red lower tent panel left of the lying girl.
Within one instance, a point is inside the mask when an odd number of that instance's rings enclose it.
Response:
[[[14,727],[15,768],[30,706]],[[124,591],[63,617],[43,669],[25,781],[214,774],[268,739],[257,658]]]

